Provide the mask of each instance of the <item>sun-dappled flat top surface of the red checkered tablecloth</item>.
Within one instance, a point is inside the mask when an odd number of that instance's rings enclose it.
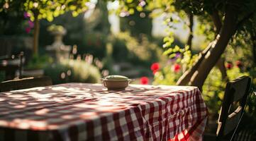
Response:
[[[134,107],[145,110],[149,104],[164,104],[163,97],[176,99],[172,96],[194,90],[196,87],[130,85],[126,90],[108,91],[101,84],[68,83],[3,92],[0,95],[0,126],[33,130],[67,128]],[[143,112],[148,119],[150,109]],[[150,122],[155,120],[158,118]]]

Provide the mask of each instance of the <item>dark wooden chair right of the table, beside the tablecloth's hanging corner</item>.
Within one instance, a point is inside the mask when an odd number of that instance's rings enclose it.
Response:
[[[235,135],[238,124],[243,118],[250,85],[251,78],[248,76],[227,83],[218,118],[216,140],[233,140],[232,136]]]

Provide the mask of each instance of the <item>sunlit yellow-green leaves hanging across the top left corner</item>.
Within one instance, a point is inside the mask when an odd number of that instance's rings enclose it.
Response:
[[[52,21],[53,18],[62,15],[66,11],[71,11],[72,16],[86,11],[89,0],[20,0],[20,1],[1,1],[0,12],[9,13],[11,11],[27,11],[31,16],[30,20],[47,19]]]

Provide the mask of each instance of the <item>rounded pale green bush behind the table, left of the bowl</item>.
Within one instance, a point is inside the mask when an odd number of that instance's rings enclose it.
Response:
[[[67,59],[60,63],[53,64],[44,69],[45,75],[52,78],[53,84],[65,82],[99,82],[101,73],[99,69],[91,64],[80,61]]]

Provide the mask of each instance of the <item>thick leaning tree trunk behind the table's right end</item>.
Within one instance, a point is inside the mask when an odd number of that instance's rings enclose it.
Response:
[[[223,27],[221,28],[221,34],[216,37],[216,45],[208,51],[206,56],[204,57],[204,61],[202,61],[199,69],[193,74],[191,78],[191,85],[199,87],[201,90],[204,85],[204,81],[206,80],[208,73],[210,73],[211,69],[217,63],[218,59],[225,51],[230,38],[233,36],[235,31],[235,23],[237,23],[237,7],[233,4],[227,4],[226,6],[226,16],[224,19]]]

